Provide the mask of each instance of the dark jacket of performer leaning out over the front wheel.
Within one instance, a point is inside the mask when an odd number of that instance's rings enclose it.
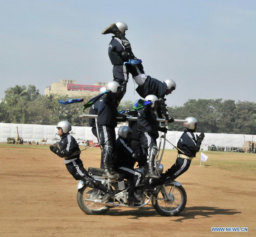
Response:
[[[181,135],[177,143],[177,148],[182,150],[187,157],[196,157],[197,152],[200,150],[201,141],[197,141],[194,136],[194,131],[187,129]],[[178,154],[183,154],[178,150]]]

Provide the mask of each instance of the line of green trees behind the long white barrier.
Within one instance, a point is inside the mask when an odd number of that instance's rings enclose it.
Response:
[[[79,96],[78,96],[79,97]],[[68,120],[72,125],[87,126],[88,119],[80,118],[89,114],[89,108],[82,112],[82,103],[61,105],[58,100],[69,96],[57,94],[41,95],[34,85],[16,85],[5,91],[0,103],[0,122],[56,125]],[[91,96],[84,98],[86,101]],[[118,110],[132,109],[132,101],[121,101]],[[255,134],[256,103],[223,99],[188,100],[183,106],[167,107],[174,119],[193,116],[198,120],[197,132]],[[169,129],[183,131],[181,123],[169,123]]]

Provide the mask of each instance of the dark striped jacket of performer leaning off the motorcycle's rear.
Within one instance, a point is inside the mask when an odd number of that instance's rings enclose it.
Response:
[[[64,157],[65,160],[80,158],[80,148],[78,143],[69,133],[63,134],[59,141],[59,148],[61,150],[62,157]]]

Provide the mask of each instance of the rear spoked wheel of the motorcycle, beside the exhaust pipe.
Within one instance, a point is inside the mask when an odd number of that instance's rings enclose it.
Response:
[[[83,212],[87,214],[101,215],[107,212],[107,210],[109,210],[109,207],[99,205],[94,202],[85,201],[85,199],[102,199],[104,196],[104,192],[101,192],[98,189],[91,188],[90,186],[85,185],[78,190],[76,198],[78,201],[78,206],[81,208]]]

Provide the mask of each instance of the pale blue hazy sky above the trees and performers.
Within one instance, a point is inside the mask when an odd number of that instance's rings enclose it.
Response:
[[[0,98],[15,85],[43,94],[60,79],[111,81],[112,35],[101,31],[118,21],[145,74],[176,82],[168,106],[256,102],[255,0],[0,0]],[[123,100],[135,88],[130,75]]]

